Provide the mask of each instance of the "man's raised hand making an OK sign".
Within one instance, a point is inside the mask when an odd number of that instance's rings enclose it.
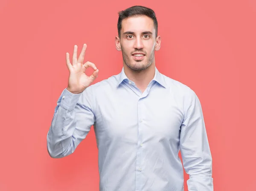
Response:
[[[99,70],[96,68],[94,63],[87,61],[83,64],[86,48],[87,45],[84,44],[77,60],[77,46],[74,46],[72,64],[70,63],[69,53],[66,53],[67,68],[70,72],[67,90],[73,94],[80,94],[81,92],[83,92],[85,88],[90,86],[90,84],[96,79],[96,77],[98,77]],[[85,71],[88,67],[94,69],[91,76],[87,76],[85,74]]]

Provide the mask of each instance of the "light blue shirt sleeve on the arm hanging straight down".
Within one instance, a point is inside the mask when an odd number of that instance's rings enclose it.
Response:
[[[189,191],[213,191],[212,156],[201,103],[195,92],[185,100],[185,117],[180,130],[180,152],[189,180]]]

